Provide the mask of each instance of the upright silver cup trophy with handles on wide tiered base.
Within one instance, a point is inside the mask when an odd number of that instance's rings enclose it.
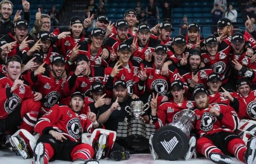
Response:
[[[148,108],[149,103],[144,105],[142,101],[132,101],[130,106],[125,107],[132,118],[129,122],[118,122],[118,142],[136,152],[148,150],[148,138],[155,133],[155,125],[145,124],[141,118]]]

